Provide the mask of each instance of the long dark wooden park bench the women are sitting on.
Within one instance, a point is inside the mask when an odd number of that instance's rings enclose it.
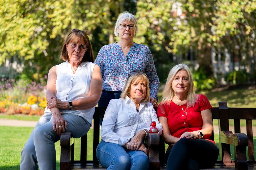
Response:
[[[219,121],[219,140],[221,161],[216,161],[212,168],[208,169],[256,169],[253,147],[252,120],[256,119],[256,108],[228,108],[226,102],[219,102],[219,107],[213,108],[213,120]],[[96,157],[96,147],[100,139],[99,119],[104,116],[106,108],[96,107],[94,113],[93,134],[93,160],[87,160],[87,135],[81,137],[80,160],[74,160],[74,139],[70,133],[62,133],[60,138],[61,157],[60,169],[104,169]],[[246,120],[247,135],[240,133],[240,120]],[[229,131],[229,120],[234,120],[235,134]],[[214,133],[213,133],[214,134]],[[214,135],[211,136],[214,140]],[[158,134],[150,134],[145,141],[149,145],[150,169],[165,169],[165,146],[162,137]],[[216,141],[218,142],[218,141]],[[231,161],[230,145],[234,145],[235,160]],[[246,148],[248,146],[248,161]]]

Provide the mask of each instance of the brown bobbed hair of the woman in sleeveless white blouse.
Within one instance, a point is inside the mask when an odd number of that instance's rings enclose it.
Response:
[[[66,44],[69,44],[74,39],[77,39],[80,42],[84,42],[85,46],[87,47],[87,50],[83,55],[82,62],[94,62],[92,44],[89,40],[89,37],[85,35],[82,31],[78,31],[78,32],[71,31],[69,33],[68,37],[65,39],[63,43],[61,53],[60,53],[60,58],[64,61],[69,61]]]

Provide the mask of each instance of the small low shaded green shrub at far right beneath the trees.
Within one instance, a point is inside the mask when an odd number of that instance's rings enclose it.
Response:
[[[246,70],[233,71],[226,75],[226,81],[233,85],[246,85],[249,81],[249,74]]]

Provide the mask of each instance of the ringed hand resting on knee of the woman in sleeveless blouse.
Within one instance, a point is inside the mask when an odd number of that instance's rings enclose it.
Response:
[[[65,132],[65,129],[67,128],[67,122],[60,113],[52,114],[52,128],[54,131],[56,131],[57,135]]]

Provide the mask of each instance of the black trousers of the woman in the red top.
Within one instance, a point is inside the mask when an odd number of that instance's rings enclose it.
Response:
[[[180,139],[167,149],[165,162],[167,170],[196,170],[211,167],[218,159],[218,147],[205,139]]]

